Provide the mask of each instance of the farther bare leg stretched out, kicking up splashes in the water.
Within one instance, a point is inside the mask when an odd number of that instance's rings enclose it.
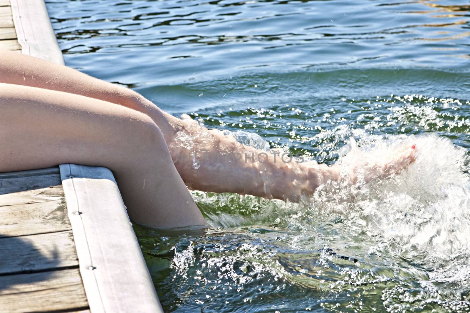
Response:
[[[340,177],[338,167],[328,167],[316,162],[286,163],[271,154],[266,159],[263,159],[264,155],[258,158],[261,151],[245,147],[233,137],[204,127],[195,127],[190,122],[165,113],[136,92],[76,70],[8,51],[0,51],[0,59],[0,82],[102,99],[148,115],[162,131],[172,157],[178,159],[175,166],[181,178],[192,188],[297,200],[302,194],[313,193],[321,183],[329,179],[338,180]],[[191,148],[181,145],[184,138],[192,142]],[[201,160],[197,169],[191,158],[183,157],[188,153],[199,155]],[[245,161],[245,155],[251,157],[253,154],[254,161],[249,158]],[[241,158],[238,158],[239,155]],[[414,155],[405,156],[405,159],[408,163],[412,162]],[[376,172],[374,177],[381,176],[382,172],[392,173],[386,170],[391,166],[384,165],[384,162],[370,162],[369,165],[376,168],[373,171]],[[398,166],[401,167],[403,166]],[[351,171],[354,176],[354,168]]]

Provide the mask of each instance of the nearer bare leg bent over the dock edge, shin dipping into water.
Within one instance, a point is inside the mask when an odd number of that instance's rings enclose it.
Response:
[[[127,107],[0,83],[0,172],[77,163],[110,168],[130,218],[204,225],[157,125]]]

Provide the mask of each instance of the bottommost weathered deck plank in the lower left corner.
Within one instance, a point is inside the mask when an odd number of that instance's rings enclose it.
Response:
[[[68,312],[86,310],[87,307],[77,268],[7,275],[0,279],[1,312]]]

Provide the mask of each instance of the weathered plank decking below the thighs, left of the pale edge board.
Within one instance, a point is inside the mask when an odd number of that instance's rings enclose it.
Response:
[[[90,312],[60,183],[58,168],[0,173],[0,312]]]

